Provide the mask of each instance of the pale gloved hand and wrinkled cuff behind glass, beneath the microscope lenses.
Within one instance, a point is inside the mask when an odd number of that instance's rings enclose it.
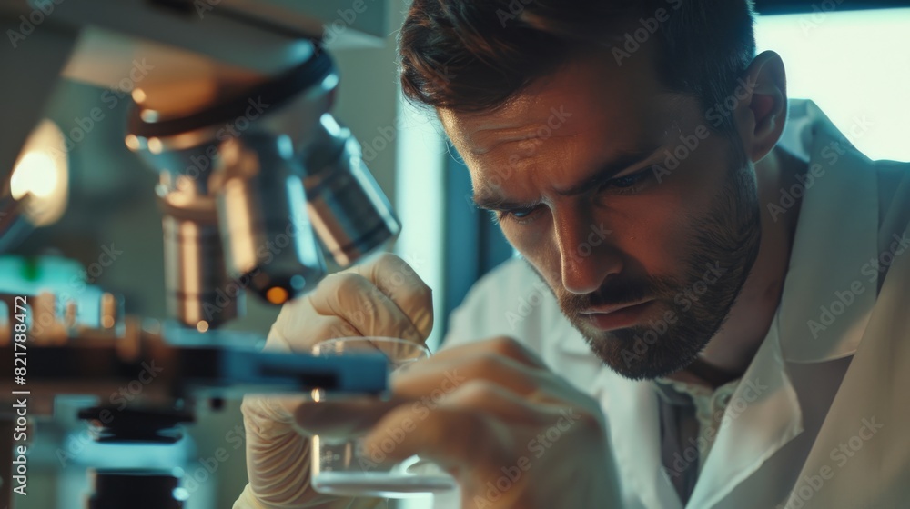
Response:
[[[398,256],[330,274],[317,288],[285,304],[268,333],[266,350],[309,352],[334,337],[390,336],[422,344],[433,326],[430,288]],[[294,415],[302,397],[243,399],[249,484],[234,509],[369,507],[315,493],[309,486],[309,437]]]

